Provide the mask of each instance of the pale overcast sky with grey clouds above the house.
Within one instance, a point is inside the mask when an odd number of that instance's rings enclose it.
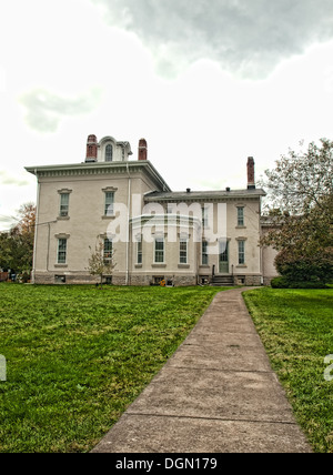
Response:
[[[0,0],[0,231],[36,202],[24,166],[141,138],[174,191],[246,188],[333,139],[332,0]]]

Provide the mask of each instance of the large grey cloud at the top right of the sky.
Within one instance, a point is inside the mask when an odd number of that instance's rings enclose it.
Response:
[[[332,0],[91,0],[138,34],[163,75],[200,59],[264,78],[283,60],[333,38]]]

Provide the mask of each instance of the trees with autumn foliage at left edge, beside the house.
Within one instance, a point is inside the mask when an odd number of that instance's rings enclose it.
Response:
[[[36,228],[36,206],[23,204],[18,211],[17,224],[0,234],[0,266],[22,273],[28,280],[32,270]]]

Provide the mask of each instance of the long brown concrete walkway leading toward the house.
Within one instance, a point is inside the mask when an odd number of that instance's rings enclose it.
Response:
[[[244,304],[219,293],[94,453],[309,453]]]

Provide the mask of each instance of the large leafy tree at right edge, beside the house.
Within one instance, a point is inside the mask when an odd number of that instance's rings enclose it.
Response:
[[[330,280],[333,266],[333,142],[290,150],[266,171],[271,229],[261,240],[280,251],[275,264],[282,275]],[[296,271],[296,269],[299,271]],[[301,272],[301,270],[303,270]]]

